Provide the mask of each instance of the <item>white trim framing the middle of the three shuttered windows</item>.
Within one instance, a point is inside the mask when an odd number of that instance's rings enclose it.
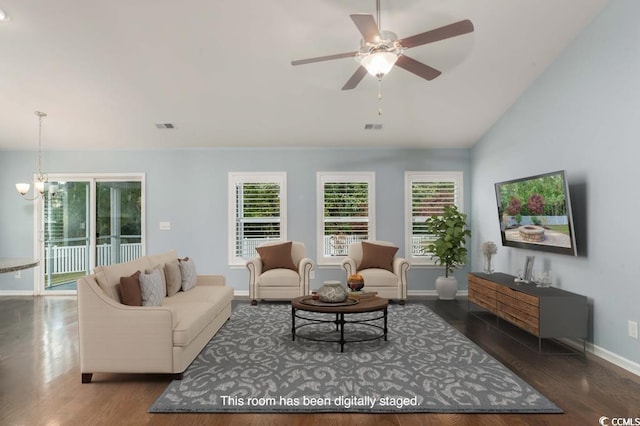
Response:
[[[366,183],[369,185],[368,196],[368,236],[370,240],[376,239],[376,190],[375,190],[375,172],[317,172],[316,173],[316,253],[317,264],[324,266],[340,265],[342,260],[347,256],[325,256],[324,255],[324,184],[325,183]]]

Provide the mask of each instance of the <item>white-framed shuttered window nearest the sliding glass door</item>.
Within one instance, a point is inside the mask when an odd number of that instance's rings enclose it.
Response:
[[[286,172],[229,173],[229,264],[244,265],[260,244],[287,239]]]

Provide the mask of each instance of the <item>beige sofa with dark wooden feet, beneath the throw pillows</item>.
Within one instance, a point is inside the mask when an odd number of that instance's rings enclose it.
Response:
[[[177,259],[175,251],[98,266],[78,279],[82,382],[94,373],[168,373],[181,379],[231,316],[233,289],[223,276],[197,276],[197,284],[162,300],[162,306],[120,303],[120,278]]]

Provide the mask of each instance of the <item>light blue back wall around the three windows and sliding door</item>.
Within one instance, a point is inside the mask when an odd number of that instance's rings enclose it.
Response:
[[[0,256],[33,255],[33,208],[14,183],[33,172],[33,152],[0,152]],[[176,249],[192,257],[200,273],[224,274],[230,286],[248,291],[248,271],[227,264],[227,174],[230,171],[286,171],[288,236],[303,241],[316,258],[316,172],[376,173],[377,238],[395,242],[404,254],[404,172],[461,170],[469,186],[470,150],[396,149],[209,149],[176,151],[46,152],[50,173],[144,172],[147,200],[147,253]],[[465,206],[471,205],[465,192]],[[171,231],[159,222],[170,221]],[[456,272],[461,288],[466,271]],[[410,291],[433,290],[441,268],[413,268]],[[344,279],[338,267],[316,268],[313,286]],[[0,290],[33,289],[33,275],[0,275]]]

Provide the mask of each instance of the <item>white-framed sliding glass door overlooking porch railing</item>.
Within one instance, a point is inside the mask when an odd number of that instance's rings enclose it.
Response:
[[[73,293],[95,266],[143,254],[144,175],[50,175],[42,201],[37,293]]]

